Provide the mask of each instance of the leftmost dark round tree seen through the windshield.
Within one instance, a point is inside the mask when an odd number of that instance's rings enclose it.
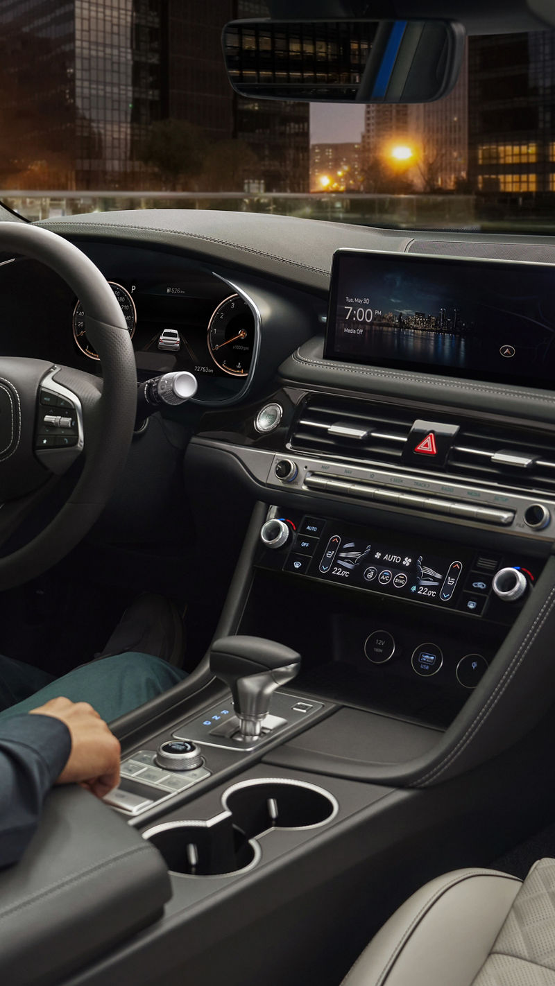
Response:
[[[186,120],[158,120],[149,129],[137,157],[159,172],[165,189],[190,186],[203,168],[207,150],[202,130]]]

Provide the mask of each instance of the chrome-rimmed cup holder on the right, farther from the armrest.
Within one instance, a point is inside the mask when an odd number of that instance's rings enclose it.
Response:
[[[337,812],[335,798],[302,781],[243,781],[222,798],[247,839],[268,828],[312,828]]]

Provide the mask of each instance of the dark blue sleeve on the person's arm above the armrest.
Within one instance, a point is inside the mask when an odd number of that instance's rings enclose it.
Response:
[[[70,732],[53,716],[0,721],[0,868],[23,856],[70,752]]]

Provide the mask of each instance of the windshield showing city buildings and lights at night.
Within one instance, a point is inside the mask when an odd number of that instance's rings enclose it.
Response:
[[[30,219],[218,208],[555,229],[555,32],[470,37],[414,106],[252,101],[221,32],[256,0],[0,0],[0,199]]]

